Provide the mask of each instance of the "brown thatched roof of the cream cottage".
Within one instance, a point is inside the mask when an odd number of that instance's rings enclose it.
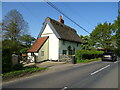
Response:
[[[82,42],[82,39],[77,34],[76,30],[65,24],[62,24],[54,19],[51,19],[50,17],[46,18],[44,24],[49,24],[51,28],[53,27],[56,33],[59,35],[58,37],[59,39],[72,41],[72,42],[79,42],[79,43]],[[42,31],[40,32],[39,37],[41,34],[42,34]]]

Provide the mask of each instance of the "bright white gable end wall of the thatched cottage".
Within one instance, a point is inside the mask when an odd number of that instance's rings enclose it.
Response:
[[[58,60],[59,56],[59,39],[53,33],[47,24],[41,37],[49,36],[49,60]]]

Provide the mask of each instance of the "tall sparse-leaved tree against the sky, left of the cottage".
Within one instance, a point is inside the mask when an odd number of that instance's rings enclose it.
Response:
[[[28,30],[28,23],[17,10],[11,10],[3,19],[3,38],[19,40],[19,37]]]

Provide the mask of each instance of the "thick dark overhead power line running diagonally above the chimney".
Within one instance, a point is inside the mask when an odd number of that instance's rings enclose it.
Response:
[[[58,7],[56,7],[55,5],[53,5],[51,2],[49,2],[48,0],[44,0],[48,5],[50,5],[52,8],[54,8],[55,10],[57,10],[59,13],[61,13],[63,16],[65,16],[67,19],[69,19],[71,22],[73,22],[75,25],[77,25],[78,27],[80,27],[81,29],[83,29],[85,32],[89,33],[86,29],[84,29],[82,26],[80,26],[78,23],[76,23],[74,20],[72,20],[70,17],[68,17],[66,14],[64,14]],[[90,34],[90,33],[89,33]]]

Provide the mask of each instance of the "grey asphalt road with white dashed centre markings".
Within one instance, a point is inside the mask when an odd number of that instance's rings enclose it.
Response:
[[[98,61],[61,67],[54,72],[4,84],[3,88],[118,88],[118,66],[119,61]]]

